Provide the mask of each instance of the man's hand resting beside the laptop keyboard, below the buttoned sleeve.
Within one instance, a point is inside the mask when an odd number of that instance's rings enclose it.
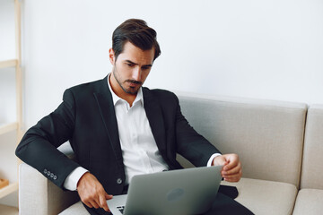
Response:
[[[91,173],[85,173],[77,183],[77,192],[81,201],[89,208],[102,208],[109,211],[107,200],[112,199],[112,195],[105,192],[98,179]]]

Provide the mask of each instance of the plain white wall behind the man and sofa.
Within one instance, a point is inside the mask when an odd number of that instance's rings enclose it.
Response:
[[[27,127],[66,88],[109,73],[112,31],[133,17],[162,47],[148,87],[323,103],[321,0],[26,0]]]

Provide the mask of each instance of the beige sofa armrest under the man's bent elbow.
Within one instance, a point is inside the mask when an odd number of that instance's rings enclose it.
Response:
[[[19,167],[19,213],[51,215],[78,202],[76,192],[63,191],[35,168],[22,163]]]

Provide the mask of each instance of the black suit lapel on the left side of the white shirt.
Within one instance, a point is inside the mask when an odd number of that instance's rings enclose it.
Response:
[[[93,94],[97,100],[100,116],[102,117],[109,136],[109,142],[111,143],[113,152],[118,160],[118,166],[120,168],[124,168],[120,139],[118,136],[117,117],[113,105],[112,95],[109,91],[108,76],[102,80],[98,92],[94,92]]]

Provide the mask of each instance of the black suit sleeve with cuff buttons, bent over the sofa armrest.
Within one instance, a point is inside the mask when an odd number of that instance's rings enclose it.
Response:
[[[58,146],[73,137],[74,111],[74,95],[71,90],[65,90],[60,106],[31,127],[15,151],[22,161],[62,189],[66,176],[79,167],[57,150]]]

